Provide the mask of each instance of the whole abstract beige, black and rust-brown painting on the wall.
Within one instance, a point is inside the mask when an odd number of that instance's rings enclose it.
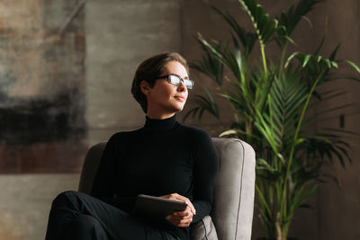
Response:
[[[79,170],[86,136],[81,2],[1,5],[0,173]]]

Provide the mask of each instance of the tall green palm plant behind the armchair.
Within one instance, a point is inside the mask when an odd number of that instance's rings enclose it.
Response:
[[[231,104],[236,122],[220,136],[242,138],[257,152],[256,191],[260,221],[269,239],[287,238],[294,211],[306,205],[311,194],[324,180],[321,165],[337,159],[341,164],[351,161],[349,145],[341,136],[343,129],[308,130],[311,121],[347,105],[312,113],[320,102],[343,94],[338,90],[320,93],[321,85],[338,79],[336,70],[342,64],[359,67],[348,60],[336,58],[339,45],[328,58],[320,56],[319,48],[311,54],[289,52],[294,44],[293,30],[320,0],[300,0],[279,17],[271,18],[257,0],[238,0],[255,31],[246,31],[229,13],[211,6],[229,24],[232,44],[198,41],[204,53],[202,60],[191,67],[209,76],[218,84],[217,91]],[[256,60],[249,56],[256,46]],[[279,54],[266,56],[266,46],[275,41]],[[224,76],[224,73],[230,75]],[[358,78],[348,77],[358,81]],[[224,79],[229,83],[225,86]],[[210,91],[193,97],[195,106],[184,116],[199,117],[204,111],[220,119],[217,103]],[[348,132],[347,132],[348,133]]]

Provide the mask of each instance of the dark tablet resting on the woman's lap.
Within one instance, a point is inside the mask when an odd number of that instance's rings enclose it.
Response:
[[[164,219],[175,211],[183,211],[186,206],[187,203],[181,200],[168,200],[140,194],[135,203],[134,213],[146,218]]]

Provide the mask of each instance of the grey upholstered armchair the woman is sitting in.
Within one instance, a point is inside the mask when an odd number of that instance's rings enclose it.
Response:
[[[219,154],[211,216],[191,228],[192,240],[250,240],[254,210],[255,152],[236,138],[212,138]],[[80,176],[79,191],[89,193],[103,148],[91,147]]]

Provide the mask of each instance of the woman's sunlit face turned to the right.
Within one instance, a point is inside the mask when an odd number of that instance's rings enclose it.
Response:
[[[183,79],[189,78],[185,67],[176,61],[167,63],[161,76],[169,74],[179,76]],[[164,77],[157,79],[152,88],[148,87],[146,81],[143,81],[141,83],[141,89],[147,96],[149,118],[170,118],[175,112],[184,109],[188,92],[183,82],[178,86],[169,84],[166,77]]]

